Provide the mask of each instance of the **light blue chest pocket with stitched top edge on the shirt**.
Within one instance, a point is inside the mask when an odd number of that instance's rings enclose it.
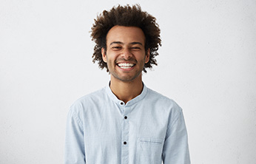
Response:
[[[164,139],[138,138],[141,159],[146,163],[161,163]]]

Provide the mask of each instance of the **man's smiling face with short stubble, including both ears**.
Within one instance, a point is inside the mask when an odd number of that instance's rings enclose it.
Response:
[[[145,35],[138,27],[112,27],[107,33],[107,51],[102,48],[101,54],[111,78],[124,82],[141,78],[144,64],[149,61]]]

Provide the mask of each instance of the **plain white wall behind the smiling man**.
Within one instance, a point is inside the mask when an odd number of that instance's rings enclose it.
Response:
[[[163,46],[143,75],[182,108],[195,164],[255,164],[256,1],[0,1],[0,163],[64,162],[71,104],[106,86],[93,19],[117,4],[157,18]]]

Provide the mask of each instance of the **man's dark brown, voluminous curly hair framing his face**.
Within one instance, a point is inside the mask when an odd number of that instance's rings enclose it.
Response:
[[[101,48],[107,49],[107,33],[115,25],[141,28],[146,38],[145,49],[150,49],[149,62],[144,65],[144,72],[146,68],[152,68],[153,64],[158,65],[155,56],[158,55],[158,46],[161,46],[160,29],[155,17],[141,11],[138,4],[132,7],[129,4],[118,5],[118,7],[112,7],[110,11],[104,10],[94,21],[91,31],[92,41],[95,41],[92,61],[93,63],[98,61],[99,68],[106,68],[109,72],[107,64],[102,59]]]

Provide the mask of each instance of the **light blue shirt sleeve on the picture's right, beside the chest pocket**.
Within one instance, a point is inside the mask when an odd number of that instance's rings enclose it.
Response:
[[[163,150],[164,164],[190,164],[186,125],[182,110],[168,127]]]

